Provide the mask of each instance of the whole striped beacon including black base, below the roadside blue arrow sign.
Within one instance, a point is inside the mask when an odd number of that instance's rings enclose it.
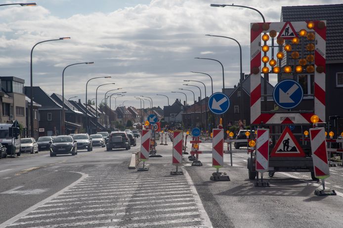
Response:
[[[224,130],[213,129],[212,133],[212,166],[216,168],[216,172],[212,173],[210,180],[230,181],[230,177],[225,172],[219,172],[219,168],[224,165]]]

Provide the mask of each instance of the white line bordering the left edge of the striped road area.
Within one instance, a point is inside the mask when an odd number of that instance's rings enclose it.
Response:
[[[38,207],[42,206],[43,204],[45,204],[46,202],[48,202],[49,200],[51,200],[52,198],[62,194],[65,190],[77,185],[79,182],[83,181],[88,175],[85,173],[81,173],[81,172],[77,172],[80,173],[82,176],[80,177],[79,180],[75,181],[74,183],[70,184],[69,186],[65,187],[64,189],[58,191],[57,193],[50,195],[49,197],[43,199],[42,201],[36,203],[35,205],[29,207],[28,209],[24,210],[23,212],[17,214],[16,216],[14,216],[13,218],[7,220],[6,222],[0,224],[0,227],[6,227],[6,226],[10,226],[11,224],[13,224],[15,221],[19,220],[21,217],[26,216],[27,214],[29,214],[30,212],[34,211],[35,209],[37,209]]]

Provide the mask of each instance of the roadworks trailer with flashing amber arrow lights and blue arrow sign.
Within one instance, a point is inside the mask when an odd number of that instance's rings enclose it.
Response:
[[[273,138],[269,145],[270,177],[275,172],[310,172],[317,180],[311,147],[299,141],[302,130],[312,127],[311,116],[325,122],[325,51],[326,21],[251,24],[251,129],[269,129]],[[265,84],[262,91],[261,73],[265,83],[269,74],[277,74],[272,95],[266,93]],[[299,75],[311,77],[313,94],[304,95]],[[272,111],[267,109],[271,96],[276,104]],[[298,107],[301,104],[302,108]],[[251,180],[258,178],[255,154],[253,149],[248,159]]]

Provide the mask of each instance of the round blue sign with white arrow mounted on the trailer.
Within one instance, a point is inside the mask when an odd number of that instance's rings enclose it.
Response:
[[[273,99],[275,103],[284,108],[291,109],[300,104],[303,91],[300,84],[294,80],[283,80],[275,85]]]

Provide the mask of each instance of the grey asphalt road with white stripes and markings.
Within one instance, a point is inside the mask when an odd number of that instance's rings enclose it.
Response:
[[[336,196],[315,196],[319,183],[309,173],[265,177],[270,188],[248,179],[245,150],[224,155],[231,181],[210,181],[212,155],[184,175],[170,175],[172,143],[158,145],[162,158],[146,162],[149,171],[128,169],[131,153],[94,148],[76,156],[47,152],[0,160],[0,228],[55,227],[333,227],[343,226],[343,168],[331,167],[327,187]],[[201,150],[211,150],[201,144]],[[189,151],[189,148],[187,148]],[[139,164],[141,167],[142,164]]]

